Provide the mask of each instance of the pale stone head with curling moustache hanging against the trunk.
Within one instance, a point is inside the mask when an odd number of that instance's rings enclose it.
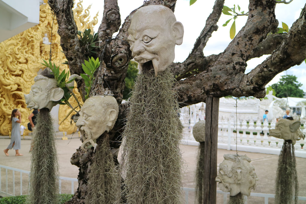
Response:
[[[76,126],[85,132],[83,150],[90,144],[97,146],[95,140],[114,127],[118,112],[118,103],[113,96],[92,96],[84,102],[76,121]]]

